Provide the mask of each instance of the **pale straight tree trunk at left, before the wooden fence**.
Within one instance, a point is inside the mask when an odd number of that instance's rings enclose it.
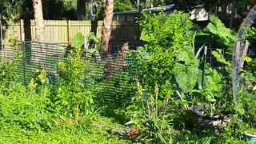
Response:
[[[42,15],[41,0],[33,0],[34,22],[35,22],[35,39],[37,41],[44,40],[44,24]]]

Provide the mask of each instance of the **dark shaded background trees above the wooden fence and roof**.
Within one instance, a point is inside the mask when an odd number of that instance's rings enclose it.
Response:
[[[80,3],[79,3],[80,2]],[[81,4],[82,2],[82,4]],[[79,14],[88,18],[89,0],[44,0],[42,1],[44,19],[79,19]],[[94,14],[98,19],[103,18],[105,1],[94,0]],[[226,18],[228,11],[235,4],[238,14],[244,10],[250,10],[256,4],[255,0],[115,0],[114,11],[125,11],[138,9],[138,2],[142,8],[175,4],[178,10],[189,11],[197,6],[204,6],[206,10],[214,12],[220,18]],[[78,4],[79,3],[79,4]],[[78,9],[78,7],[79,9]],[[84,8],[83,8],[84,7]],[[82,11],[81,11],[82,9]],[[1,19],[34,18],[31,0],[2,0],[0,1]]]

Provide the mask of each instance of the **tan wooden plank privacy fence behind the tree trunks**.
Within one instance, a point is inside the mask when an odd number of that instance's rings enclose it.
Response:
[[[102,21],[70,21],[70,20],[45,20],[45,41],[46,42],[70,42],[75,34],[81,32],[87,36],[94,32],[98,38],[101,37]],[[34,20],[20,20],[14,24],[2,21],[2,33],[4,42],[10,38],[18,40],[34,40]],[[134,22],[114,21],[110,41],[134,41],[140,35],[139,26]]]

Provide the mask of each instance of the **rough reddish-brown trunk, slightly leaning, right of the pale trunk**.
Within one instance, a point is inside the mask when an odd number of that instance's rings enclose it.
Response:
[[[113,18],[114,0],[106,0],[105,16],[102,28],[102,52],[107,54],[109,51],[109,41],[111,34],[111,24]]]

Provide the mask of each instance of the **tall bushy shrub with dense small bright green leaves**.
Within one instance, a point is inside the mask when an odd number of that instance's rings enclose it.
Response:
[[[182,88],[182,81],[186,80],[180,72],[186,68],[197,70],[198,66],[198,60],[194,57],[193,34],[190,31],[193,23],[189,15],[174,11],[170,15],[143,13],[143,16],[144,19],[138,24],[142,26],[141,40],[147,44],[134,56],[138,68],[142,70],[139,75],[142,85],[152,88],[156,82],[161,86],[176,74]],[[196,70],[194,74],[197,74]]]

